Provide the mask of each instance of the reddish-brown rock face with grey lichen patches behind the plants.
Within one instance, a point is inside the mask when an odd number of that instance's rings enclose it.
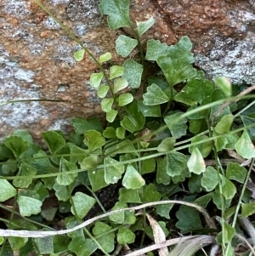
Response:
[[[115,54],[115,40],[120,33],[131,32],[109,30],[98,0],[41,2],[95,56],[110,51],[114,61],[122,60]],[[132,0],[130,14],[137,21],[151,15],[156,19],[143,43],[154,38],[170,45],[187,35],[194,43],[195,65],[207,77],[253,83],[254,9],[253,0]],[[0,138],[26,128],[39,139],[43,130],[68,130],[71,117],[104,116],[88,82],[97,66],[88,55],[76,62],[73,54],[78,49],[78,43],[33,0],[2,0],[1,102],[44,101],[2,105]]]

